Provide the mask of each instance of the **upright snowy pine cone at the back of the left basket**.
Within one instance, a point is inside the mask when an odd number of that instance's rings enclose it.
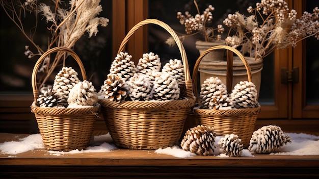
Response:
[[[77,72],[72,67],[63,67],[56,75],[52,91],[54,91],[56,95],[63,96],[62,105],[64,107],[68,106],[70,89],[78,82],[80,82],[80,80],[77,78]]]

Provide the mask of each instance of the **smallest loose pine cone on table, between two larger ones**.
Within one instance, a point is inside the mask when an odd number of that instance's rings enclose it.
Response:
[[[241,143],[242,139],[238,138],[237,135],[227,134],[218,142],[220,148],[223,149],[223,154],[229,157],[241,157],[244,146]]]

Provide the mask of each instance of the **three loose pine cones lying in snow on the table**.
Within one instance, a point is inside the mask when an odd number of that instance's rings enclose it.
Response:
[[[216,144],[214,127],[198,125],[189,129],[180,146],[183,150],[194,154],[207,156],[214,155],[218,148],[221,154],[229,157],[241,157],[243,153],[242,140],[234,134],[223,136]],[[248,150],[257,154],[269,154],[291,143],[291,137],[285,135],[281,128],[276,125],[263,126],[255,131],[250,139]]]

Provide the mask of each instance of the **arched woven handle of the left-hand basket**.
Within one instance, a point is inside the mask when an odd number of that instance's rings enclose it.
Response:
[[[83,66],[83,63],[81,61],[81,59],[76,55],[76,53],[67,47],[62,47],[62,46],[58,46],[58,47],[54,47],[51,49],[48,49],[37,61],[37,63],[34,65],[33,71],[32,71],[32,89],[33,89],[33,97],[34,97],[34,102],[36,104],[36,106],[38,106],[38,101],[37,98],[39,98],[39,90],[38,90],[38,86],[37,86],[37,72],[38,69],[40,67],[40,65],[42,64],[42,62],[44,61],[45,57],[47,57],[49,54],[51,53],[55,53],[58,51],[63,51],[66,52],[68,54],[70,54],[75,61],[77,62],[77,64],[79,65],[80,69],[81,69],[81,73],[82,73],[82,78],[83,80],[87,80],[87,75]]]

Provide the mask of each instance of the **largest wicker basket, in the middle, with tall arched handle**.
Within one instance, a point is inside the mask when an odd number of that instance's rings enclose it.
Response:
[[[101,111],[117,146],[130,149],[157,149],[173,146],[180,139],[185,119],[195,104],[192,80],[184,47],[175,32],[164,22],[146,19],[136,24],[123,39],[118,53],[129,38],[145,24],[157,24],[167,30],[179,48],[185,73],[187,96],[167,101],[122,101],[99,99]]]

